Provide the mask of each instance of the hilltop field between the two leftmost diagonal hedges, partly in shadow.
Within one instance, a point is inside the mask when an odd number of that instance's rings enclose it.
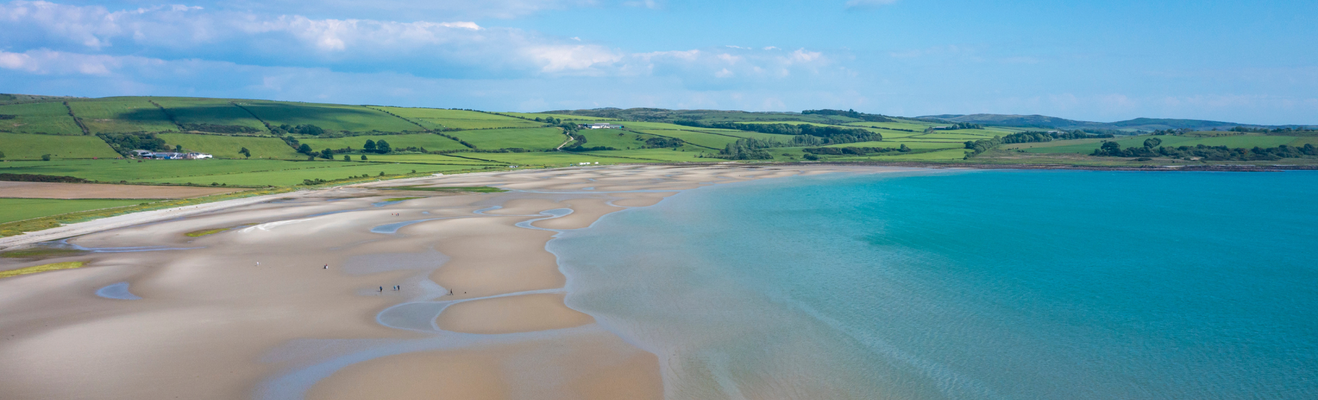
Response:
[[[91,133],[178,130],[169,116],[148,97],[104,97],[69,101],[74,114]]]

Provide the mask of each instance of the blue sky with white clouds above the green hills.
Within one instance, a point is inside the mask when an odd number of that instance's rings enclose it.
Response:
[[[0,3],[0,92],[1318,124],[1318,1]]]

